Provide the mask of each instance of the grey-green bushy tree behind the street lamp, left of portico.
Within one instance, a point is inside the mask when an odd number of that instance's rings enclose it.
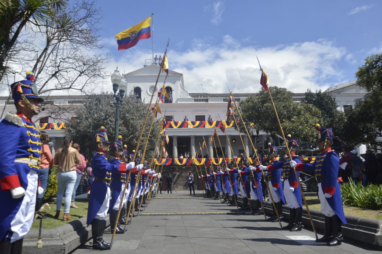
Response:
[[[113,100],[111,94],[90,95],[89,100],[76,112],[77,119],[68,123],[67,133],[72,136],[74,142],[81,146],[81,153],[87,159],[91,159],[95,152],[92,135],[100,132],[101,126],[107,129],[109,141],[115,139],[115,108],[110,107],[113,105]],[[146,112],[147,104],[143,104],[133,95],[128,95],[123,99],[120,107],[119,134],[122,136],[123,144],[128,146],[128,153],[132,153],[138,144]],[[152,113],[149,113],[139,150],[144,149],[151,119]],[[159,122],[159,120],[155,120],[152,125],[148,147],[153,146],[157,140],[160,131],[157,128]],[[151,158],[152,152],[147,150],[145,159],[149,161]]]

